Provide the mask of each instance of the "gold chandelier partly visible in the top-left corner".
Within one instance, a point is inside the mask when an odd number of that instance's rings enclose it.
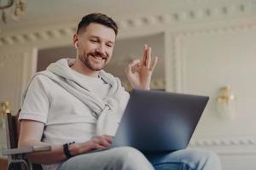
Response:
[[[7,16],[4,10],[8,8],[12,8],[13,10],[13,18],[18,20],[22,14],[24,14],[26,10],[26,3],[24,0],[7,0],[6,3],[3,3],[3,0],[0,0],[0,10],[2,10],[2,21],[4,24],[7,23]]]

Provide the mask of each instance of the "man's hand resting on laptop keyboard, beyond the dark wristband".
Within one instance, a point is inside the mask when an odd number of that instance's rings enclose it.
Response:
[[[84,143],[75,143],[70,145],[70,153],[77,156],[89,152],[90,150],[107,149],[112,144],[113,137],[108,135],[96,136]]]

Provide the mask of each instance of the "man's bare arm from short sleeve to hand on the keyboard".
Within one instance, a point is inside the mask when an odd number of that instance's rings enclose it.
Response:
[[[20,124],[20,139],[18,147],[32,145],[50,145],[41,142],[44,124],[34,121],[22,121]],[[84,154],[90,150],[109,147],[112,143],[112,137],[103,135],[96,136],[84,143],[75,143],[68,145],[68,151],[71,156]],[[67,156],[64,154],[63,144],[51,145],[51,150],[27,154],[29,160],[38,164],[51,164],[59,161],[65,161]]]

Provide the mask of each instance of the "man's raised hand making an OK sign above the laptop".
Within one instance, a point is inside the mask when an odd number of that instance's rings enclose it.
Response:
[[[150,89],[150,82],[158,57],[151,61],[151,48],[144,45],[143,58],[133,59],[125,68],[126,76],[132,88]]]

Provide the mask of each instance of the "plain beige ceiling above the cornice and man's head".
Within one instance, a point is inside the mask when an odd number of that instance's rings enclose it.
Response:
[[[8,0],[2,0],[6,3]],[[241,0],[23,0],[26,14],[20,20],[12,20],[8,9],[7,24],[0,20],[1,31],[12,31],[31,26],[45,26],[56,23],[77,23],[84,14],[101,12],[116,19],[133,18],[145,14],[182,12],[191,8],[212,8],[220,4],[231,4]],[[250,1],[250,0],[244,0]]]

